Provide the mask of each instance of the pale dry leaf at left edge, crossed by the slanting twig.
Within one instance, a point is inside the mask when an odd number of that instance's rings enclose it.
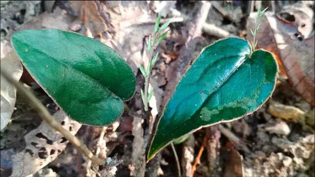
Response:
[[[23,69],[22,64],[16,55],[11,52],[5,58],[1,59],[1,69],[4,68],[10,72],[15,81],[19,81]],[[16,100],[16,89],[1,75],[1,110],[0,110],[0,130],[2,130],[9,122],[13,113],[15,100]]]

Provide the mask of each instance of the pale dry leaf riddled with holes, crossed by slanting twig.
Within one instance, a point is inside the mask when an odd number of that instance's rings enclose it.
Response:
[[[56,112],[53,117],[75,135],[81,124],[69,119],[62,110]],[[68,141],[63,135],[45,121],[36,129],[25,135],[26,148],[13,155],[13,169],[11,177],[25,177],[31,175],[55,160],[66,147]]]

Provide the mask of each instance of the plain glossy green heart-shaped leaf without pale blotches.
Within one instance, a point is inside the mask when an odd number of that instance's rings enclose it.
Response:
[[[24,30],[11,37],[35,81],[74,120],[107,125],[119,118],[135,91],[135,76],[110,47],[57,29]]]

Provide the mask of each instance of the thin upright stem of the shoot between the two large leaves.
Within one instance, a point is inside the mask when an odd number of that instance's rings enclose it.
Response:
[[[151,41],[151,50],[148,53],[148,59],[149,62],[148,64],[150,65],[152,57],[153,57],[153,51],[157,48],[155,47],[155,42],[158,39],[159,33],[157,32],[156,34],[154,34],[152,36],[152,41]],[[148,92],[149,92],[149,84],[150,84],[150,77],[151,77],[151,69],[148,71],[148,77],[145,78],[145,84],[144,84],[144,100],[143,100],[143,104],[144,104],[144,111],[148,111],[148,104],[149,104],[149,100],[148,100]]]

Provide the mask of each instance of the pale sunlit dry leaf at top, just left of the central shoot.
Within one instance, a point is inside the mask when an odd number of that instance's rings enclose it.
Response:
[[[114,10],[108,9],[111,25],[115,30],[113,47],[137,74],[138,63],[144,66],[148,64],[147,57],[141,56],[141,50],[144,47],[143,39],[152,33],[154,23],[147,23],[152,18],[148,15],[150,9],[146,1],[122,1],[120,10],[121,13],[117,14]]]

